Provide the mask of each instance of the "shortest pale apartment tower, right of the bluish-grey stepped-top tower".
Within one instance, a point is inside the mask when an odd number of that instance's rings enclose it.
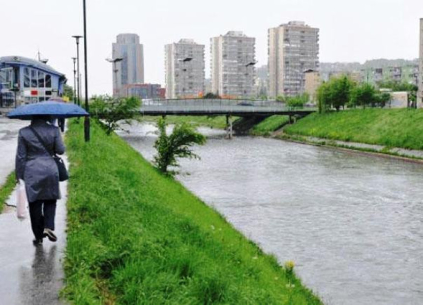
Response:
[[[166,98],[191,99],[204,94],[204,45],[192,39],[165,45]]]

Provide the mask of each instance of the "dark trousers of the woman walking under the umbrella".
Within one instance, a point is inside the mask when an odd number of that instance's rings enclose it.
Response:
[[[57,200],[37,200],[31,202],[30,218],[35,238],[43,238],[44,228],[54,230]]]

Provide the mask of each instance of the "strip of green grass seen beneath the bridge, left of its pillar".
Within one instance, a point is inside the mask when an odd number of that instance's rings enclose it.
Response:
[[[157,120],[160,117],[159,116],[144,116],[143,118],[146,121],[157,122]],[[233,120],[234,119],[236,118],[233,118]],[[166,116],[166,122],[168,124],[189,123],[195,127],[205,126],[205,127],[217,128],[217,129],[224,129],[226,127],[226,117],[222,115],[219,115],[219,116],[168,115]]]

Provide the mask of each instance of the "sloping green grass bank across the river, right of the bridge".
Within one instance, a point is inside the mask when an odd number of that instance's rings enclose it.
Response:
[[[354,109],[311,114],[288,126],[289,135],[423,149],[423,109]]]

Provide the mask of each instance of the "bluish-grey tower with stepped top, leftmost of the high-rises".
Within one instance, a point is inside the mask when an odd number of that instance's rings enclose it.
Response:
[[[144,83],[144,47],[137,34],[119,34],[112,44],[113,59],[121,61],[113,64],[113,93],[124,96],[124,85]]]

